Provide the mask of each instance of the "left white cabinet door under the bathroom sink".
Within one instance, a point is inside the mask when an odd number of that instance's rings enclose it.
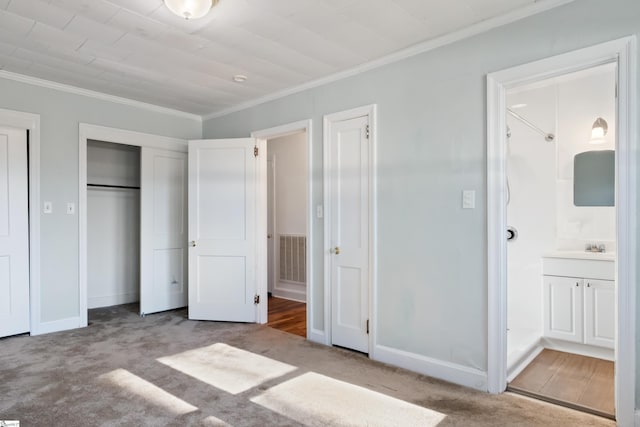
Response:
[[[582,342],[583,280],[543,276],[544,335]]]

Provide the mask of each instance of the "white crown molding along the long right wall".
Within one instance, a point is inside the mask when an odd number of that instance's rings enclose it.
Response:
[[[572,3],[574,1],[575,0],[538,0],[535,3],[532,3],[521,9],[514,10],[504,15],[487,19],[485,21],[478,22],[477,24],[473,24],[469,27],[463,28],[453,33],[445,34],[443,36],[418,43],[406,49],[399,50],[390,55],[386,55],[386,56],[383,56],[382,58],[375,59],[370,62],[366,62],[364,64],[350,68],[348,70],[340,71],[335,74],[331,74],[327,77],[322,77],[320,79],[313,80],[311,82],[304,83],[302,85],[295,86],[290,89],[285,89],[280,92],[275,92],[270,95],[256,98],[254,100],[236,105],[234,107],[230,107],[217,112],[212,112],[210,114],[202,116],[202,119],[203,120],[216,119],[218,117],[222,117],[231,113],[236,113],[238,111],[246,110],[247,108],[255,107],[257,105],[264,104],[269,101],[274,101],[276,99],[284,98],[286,96],[293,95],[295,93],[299,93],[308,89],[313,89],[318,86],[322,86],[338,80],[346,79],[348,77],[352,77],[357,74],[364,73],[365,71],[373,70],[388,64],[392,64],[394,62],[402,61],[403,59],[407,59],[412,56],[416,56],[421,53],[425,53],[430,50],[434,50],[439,47],[442,47],[451,43],[455,43],[457,41],[475,36],[477,34],[487,32],[494,28],[501,27],[503,25],[507,25],[515,21],[519,21],[529,16],[537,15],[549,9],[563,6],[565,4]]]

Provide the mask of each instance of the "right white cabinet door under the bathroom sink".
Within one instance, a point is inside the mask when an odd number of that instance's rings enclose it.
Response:
[[[584,283],[584,342],[614,348],[616,333],[614,282],[585,279]]]

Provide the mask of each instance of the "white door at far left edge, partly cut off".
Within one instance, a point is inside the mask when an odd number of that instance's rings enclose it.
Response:
[[[0,337],[29,332],[27,132],[0,128]]]

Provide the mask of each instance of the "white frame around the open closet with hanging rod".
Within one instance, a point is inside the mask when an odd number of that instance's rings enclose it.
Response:
[[[187,140],[105,126],[80,123],[78,132],[78,305],[80,324],[88,324],[87,316],[87,141],[111,142],[136,147],[159,148],[187,152]]]

